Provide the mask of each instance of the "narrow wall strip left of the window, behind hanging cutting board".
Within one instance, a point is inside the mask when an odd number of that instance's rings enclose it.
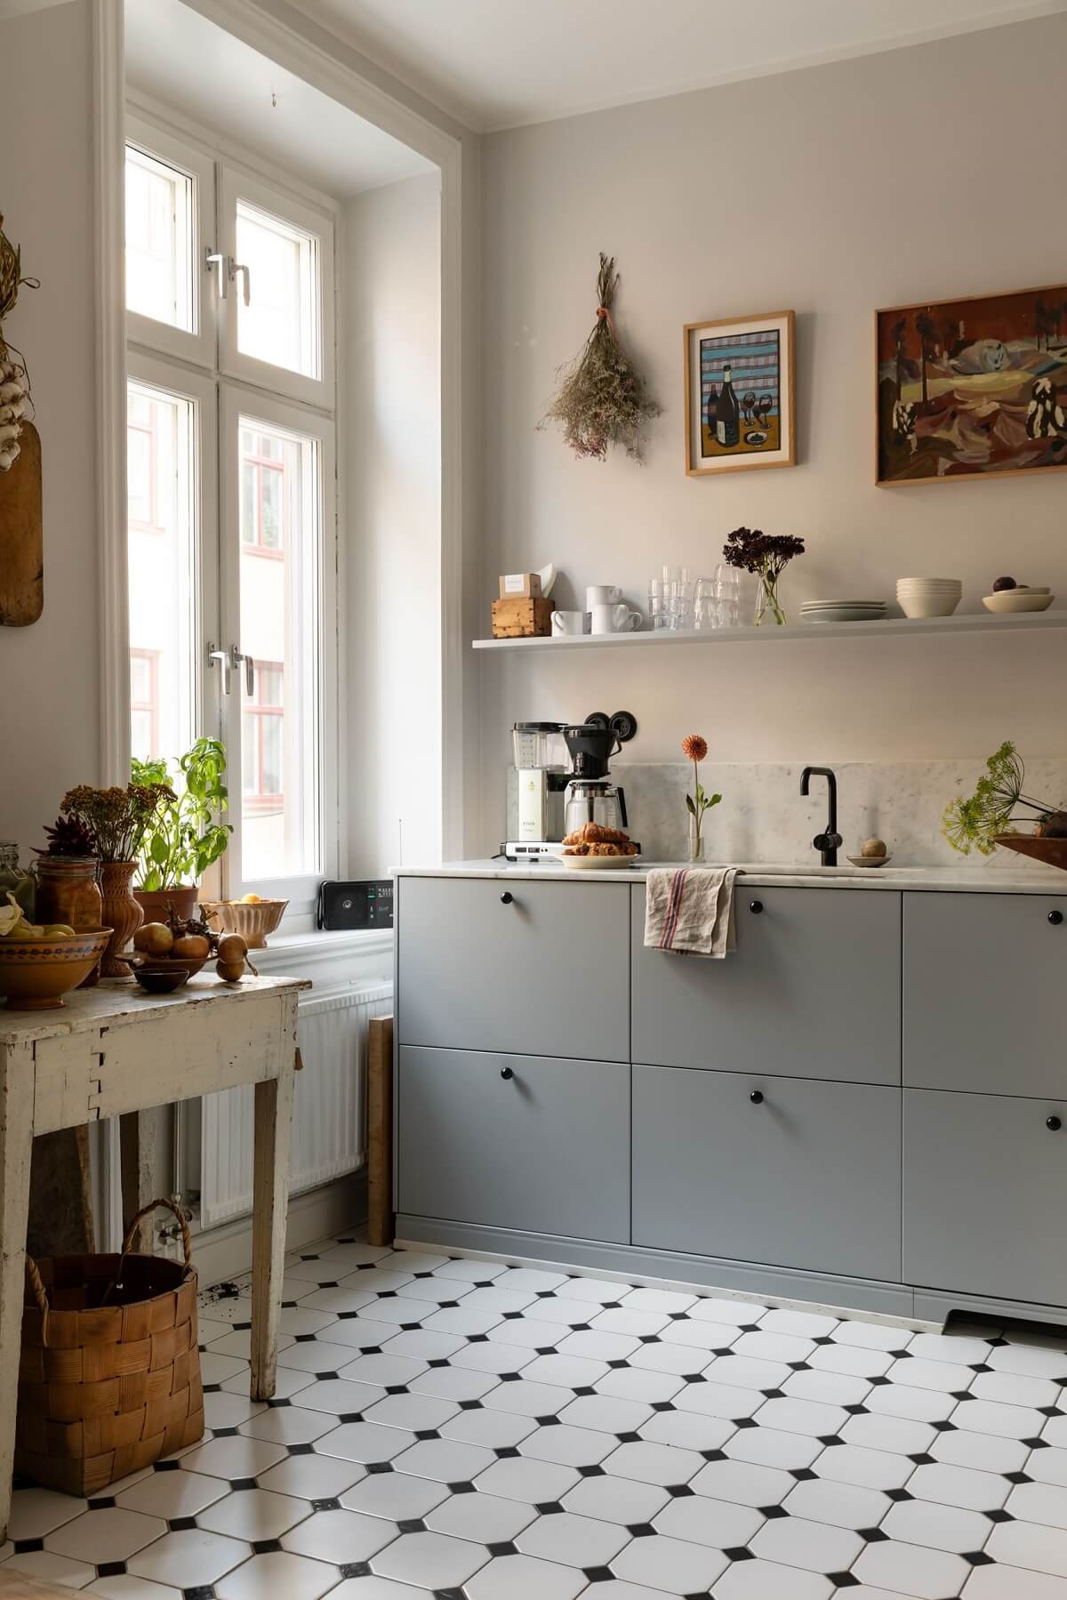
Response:
[[[29,363],[43,451],[45,614],[0,627],[0,835],[43,843],[70,784],[99,768],[93,48],[88,0],[0,22],[0,210],[42,280],[5,334]]]

